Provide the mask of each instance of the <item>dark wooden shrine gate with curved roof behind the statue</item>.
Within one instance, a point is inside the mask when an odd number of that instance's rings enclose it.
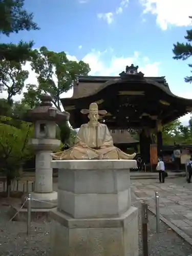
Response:
[[[119,76],[77,76],[73,96],[61,99],[74,129],[88,122],[80,110],[89,108],[92,102],[108,112],[101,122],[111,132],[138,131],[145,163],[152,161],[151,145],[157,144],[156,155],[161,155],[163,125],[192,111],[192,100],[174,95],[164,76],[145,77],[133,64]]]

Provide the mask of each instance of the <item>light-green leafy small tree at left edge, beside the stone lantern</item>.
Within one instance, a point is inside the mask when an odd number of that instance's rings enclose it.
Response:
[[[4,120],[7,118],[1,117],[1,121]],[[22,122],[20,129],[13,125],[0,123],[0,169],[7,178],[8,195],[11,180],[19,175],[22,164],[34,155],[28,145],[32,132],[32,126],[27,122]]]

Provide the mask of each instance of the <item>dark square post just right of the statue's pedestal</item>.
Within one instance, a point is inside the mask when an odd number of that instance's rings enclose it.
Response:
[[[141,221],[142,221],[142,243],[143,243],[143,256],[148,256],[148,205],[143,202],[141,205]]]

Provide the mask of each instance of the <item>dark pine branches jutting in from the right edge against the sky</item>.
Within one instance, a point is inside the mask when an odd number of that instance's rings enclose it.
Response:
[[[192,18],[192,16],[189,16],[189,18]],[[182,59],[186,60],[189,57],[192,56],[192,30],[187,30],[187,35],[185,36],[185,39],[187,39],[188,42],[186,43],[180,43],[177,42],[177,44],[174,44],[174,49],[173,52],[175,56],[173,57],[174,59]],[[192,64],[188,64],[189,68],[192,68]],[[192,71],[191,71],[192,73]],[[185,77],[185,82],[192,82],[192,76],[187,76]]]

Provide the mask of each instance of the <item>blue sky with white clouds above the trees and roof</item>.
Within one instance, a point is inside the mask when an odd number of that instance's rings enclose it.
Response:
[[[1,42],[34,40],[35,48],[65,51],[89,63],[90,75],[118,76],[133,63],[145,76],[165,76],[174,94],[192,98],[192,84],[184,81],[190,61],[174,60],[172,51],[191,29],[191,0],[25,0],[25,9],[40,30],[2,36]],[[26,84],[36,83],[30,63],[24,69],[30,71]],[[180,120],[187,124],[189,118]]]

